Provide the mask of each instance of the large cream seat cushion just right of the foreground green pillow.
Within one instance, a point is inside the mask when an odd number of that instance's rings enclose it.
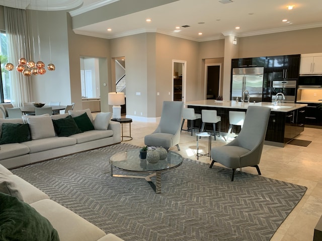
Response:
[[[61,240],[97,241],[105,235],[103,230],[53,200],[44,199],[30,205],[51,222]]]

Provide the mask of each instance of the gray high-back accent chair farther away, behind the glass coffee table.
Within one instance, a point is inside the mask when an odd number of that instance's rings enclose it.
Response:
[[[183,102],[181,101],[164,101],[160,122],[152,134],[144,137],[144,144],[146,146],[163,147],[166,150],[177,146],[180,151],[182,109]]]

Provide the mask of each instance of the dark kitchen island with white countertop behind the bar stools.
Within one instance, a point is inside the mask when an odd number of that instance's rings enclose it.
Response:
[[[235,101],[224,100],[197,100],[186,102],[187,107],[195,109],[196,113],[201,113],[202,109],[217,110],[217,115],[221,116],[221,133],[227,133],[229,128],[229,111],[245,111],[248,106],[264,106],[271,108],[270,119],[267,127],[265,144],[277,147],[284,147],[292,139],[304,131],[305,106],[307,104],[278,103],[271,102],[257,103],[236,103]],[[212,130],[211,125],[206,126],[207,130]],[[238,133],[238,129],[235,129]]]

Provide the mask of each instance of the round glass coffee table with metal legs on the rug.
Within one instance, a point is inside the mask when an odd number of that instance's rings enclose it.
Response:
[[[168,157],[164,160],[159,160],[157,163],[148,163],[146,159],[140,159],[140,149],[133,149],[117,153],[110,158],[111,177],[131,177],[144,178],[155,193],[161,193],[161,173],[179,167],[182,164],[183,157],[176,153],[169,151]],[[151,173],[147,176],[131,176],[113,174],[113,168],[133,173]],[[151,177],[156,176],[156,183],[154,184]]]

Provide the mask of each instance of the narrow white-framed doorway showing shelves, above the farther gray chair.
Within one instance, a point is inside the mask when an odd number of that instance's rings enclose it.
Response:
[[[187,61],[172,60],[172,100],[186,102],[186,65]]]

